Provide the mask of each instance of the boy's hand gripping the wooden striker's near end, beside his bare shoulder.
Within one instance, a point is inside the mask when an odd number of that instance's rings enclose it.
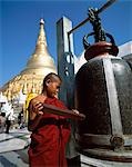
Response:
[[[33,106],[33,111],[37,114],[37,115],[43,115],[43,105],[42,105],[42,102],[40,102],[40,101],[34,101],[33,104],[32,104],[32,106]]]

